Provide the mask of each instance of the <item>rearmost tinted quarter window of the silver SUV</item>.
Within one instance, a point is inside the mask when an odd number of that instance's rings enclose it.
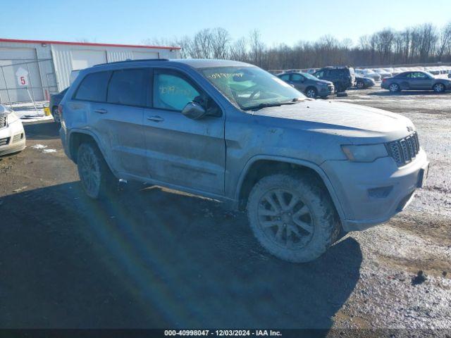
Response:
[[[85,76],[75,94],[76,100],[105,102],[106,87],[111,72],[91,73]]]

